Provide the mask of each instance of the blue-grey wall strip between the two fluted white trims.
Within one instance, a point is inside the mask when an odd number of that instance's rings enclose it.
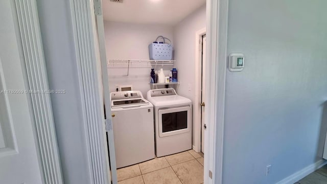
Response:
[[[37,0],[64,183],[91,181],[69,1]]]

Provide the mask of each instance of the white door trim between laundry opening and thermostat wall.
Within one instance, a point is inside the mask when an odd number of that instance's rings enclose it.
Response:
[[[222,183],[228,0],[207,0],[204,183]],[[207,177],[212,171],[212,179]]]

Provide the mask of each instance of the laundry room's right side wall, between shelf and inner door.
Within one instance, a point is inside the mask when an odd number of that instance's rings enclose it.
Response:
[[[174,27],[175,66],[180,82],[177,93],[189,98],[194,103],[195,97],[195,33],[206,26],[205,5],[187,16]],[[190,90],[189,90],[190,86]],[[193,104],[194,106],[195,104]],[[193,108],[194,109],[194,108]],[[196,125],[193,111],[193,136]]]

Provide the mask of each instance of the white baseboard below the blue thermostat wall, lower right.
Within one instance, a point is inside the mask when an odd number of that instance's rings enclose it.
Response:
[[[327,164],[327,160],[321,159],[318,162],[311,164],[310,166],[305,167],[305,168],[297,171],[296,173],[284,178],[283,180],[278,181],[276,184],[289,184],[289,183],[293,184],[296,181],[298,181],[298,180],[302,179],[303,177],[306,177],[310,173],[314,172],[315,170],[321,168],[325,164]]]

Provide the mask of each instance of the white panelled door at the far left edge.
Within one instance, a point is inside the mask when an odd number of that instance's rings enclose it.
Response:
[[[0,183],[42,183],[13,12],[0,1]]]

